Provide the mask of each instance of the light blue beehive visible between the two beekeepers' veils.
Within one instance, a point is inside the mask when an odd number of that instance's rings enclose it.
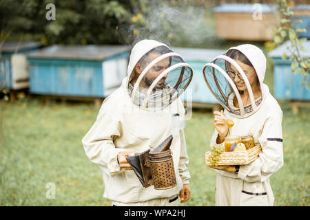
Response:
[[[180,54],[194,70],[192,82],[185,90],[184,95],[181,96],[183,101],[189,102],[192,98],[194,107],[198,107],[200,103],[218,104],[218,100],[211,94],[203,78],[203,66],[213,61],[216,56],[225,54],[226,51],[182,47],[172,47],[172,50]]]

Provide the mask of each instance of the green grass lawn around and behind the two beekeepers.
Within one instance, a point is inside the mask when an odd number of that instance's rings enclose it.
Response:
[[[40,98],[9,104],[0,100],[0,206],[109,206],[103,198],[101,170],[86,157],[81,139],[99,109],[87,102],[44,107]],[[276,206],[309,206],[309,108],[293,115],[281,103],[285,165],[271,177]],[[211,111],[196,110],[185,134],[192,175],[191,199],[182,206],[214,206],[215,172],[205,166]],[[55,199],[45,196],[48,183]]]

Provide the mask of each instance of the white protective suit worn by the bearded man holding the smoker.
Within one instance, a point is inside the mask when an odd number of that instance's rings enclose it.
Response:
[[[183,131],[185,109],[180,98],[176,98],[165,109],[155,111],[134,104],[137,98],[132,99],[129,93],[132,85],[129,86],[128,83],[134,66],[144,54],[161,45],[166,46],[153,40],[136,43],[130,55],[128,76],[123,79],[121,87],[105,98],[96,122],[82,140],[87,157],[98,164],[103,171],[105,186],[103,197],[112,200],[112,204],[116,206],[125,203],[130,206],[143,206],[145,201],[171,199],[178,195],[183,184],[189,184],[190,175],[187,170],[189,159]],[[166,190],[155,190],[154,186],[144,188],[133,170],[124,170],[119,166],[117,161],[119,152],[141,153],[158,146],[169,135],[173,135],[170,149],[176,170],[175,187]],[[178,200],[174,202],[177,203]],[[171,205],[167,201],[147,204]]]

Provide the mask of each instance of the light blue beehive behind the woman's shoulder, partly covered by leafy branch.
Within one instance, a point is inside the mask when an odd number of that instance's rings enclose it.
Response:
[[[287,41],[268,54],[274,62],[274,96],[279,100],[310,100],[310,89],[306,88],[307,84],[301,85],[304,80],[302,75],[300,73],[293,74],[289,59],[282,60],[282,55],[287,52],[289,45],[290,42]],[[301,56],[310,57],[310,41],[304,41],[303,46],[307,52],[300,51]],[[289,55],[287,52],[288,57]]]

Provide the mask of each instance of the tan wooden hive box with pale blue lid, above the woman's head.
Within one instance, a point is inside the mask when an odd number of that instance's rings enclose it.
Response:
[[[213,12],[216,36],[221,39],[270,41],[278,24],[276,10],[266,4],[225,3]]]

